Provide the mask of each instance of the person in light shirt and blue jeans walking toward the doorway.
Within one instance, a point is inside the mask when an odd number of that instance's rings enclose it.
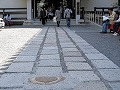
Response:
[[[70,23],[71,23],[71,20],[70,20],[71,14],[72,14],[72,10],[67,7],[64,12],[64,18],[66,18],[66,23],[68,27],[70,27]]]

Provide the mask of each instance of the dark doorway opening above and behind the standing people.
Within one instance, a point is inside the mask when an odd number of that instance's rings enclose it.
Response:
[[[62,8],[62,12],[66,6],[69,6],[73,11],[73,17],[75,18],[75,0],[32,0],[32,15],[33,18],[38,18],[40,16],[41,7],[46,9],[52,7],[54,9],[53,13],[58,7]]]

